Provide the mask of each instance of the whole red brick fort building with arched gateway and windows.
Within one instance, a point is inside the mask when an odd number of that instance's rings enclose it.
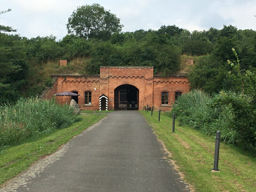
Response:
[[[189,91],[186,76],[156,76],[153,67],[100,67],[100,75],[52,75],[52,88],[43,96],[52,98],[64,91],[73,97],[82,110],[142,110],[154,106],[169,111],[182,93]],[[66,97],[56,96],[66,104]],[[70,102],[71,96],[68,96]]]

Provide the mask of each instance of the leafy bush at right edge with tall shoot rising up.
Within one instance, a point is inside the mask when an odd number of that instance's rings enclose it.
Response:
[[[234,48],[232,52],[236,60],[227,61],[231,67],[228,76],[233,79],[236,92],[220,92],[212,107],[231,107],[234,114],[231,128],[239,134],[237,144],[256,154],[256,76],[252,71],[241,69]]]

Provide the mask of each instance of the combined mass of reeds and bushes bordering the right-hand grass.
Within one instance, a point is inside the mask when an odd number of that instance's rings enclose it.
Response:
[[[181,95],[172,112],[181,125],[207,135],[221,132],[221,140],[251,153],[256,152],[256,110],[252,97],[222,91],[209,96],[193,90]]]

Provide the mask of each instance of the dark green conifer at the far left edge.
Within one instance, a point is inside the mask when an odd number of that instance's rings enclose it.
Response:
[[[0,14],[9,11],[11,10]],[[18,99],[28,73],[27,63],[23,60],[25,51],[20,36],[3,33],[13,31],[16,30],[9,26],[0,26],[0,102]]]

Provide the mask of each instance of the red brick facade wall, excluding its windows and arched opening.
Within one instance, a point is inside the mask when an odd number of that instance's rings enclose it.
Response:
[[[153,76],[153,67],[101,67],[100,76],[86,75],[54,75],[57,81],[53,84],[44,98],[51,98],[54,94],[64,91],[76,91],[78,105],[82,110],[99,110],[99,97],[105,94],[108,97],[108,109],[114,109],[114,90],[123,84],[130,84],[139,89],[139,110],[147,104],[169,111],[175,101],[175,92],[188,92],[187,77]],[[84,92],[92,92],[92,103],[84,104]],[[168,92],[168,104],[161,104],[161,93]],[[71,96],[68,96],[68,103]],[[56,101],[66,104],[65,96],[57,96]]]

